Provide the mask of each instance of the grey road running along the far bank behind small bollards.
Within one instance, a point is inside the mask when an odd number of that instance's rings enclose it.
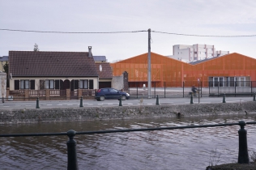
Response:
[[[240,103],[245,101],[253,101],[253,97],[226,97],[226,103]],[[194,104],[198,104],[198,98],[194,97]],[[222,97],[202,97],[199,99],[200,104],[213,104],[222,103]],[[177,98],[160,98],[160,105],[169,104],[190,104],[190,97],[177,97]],[[256,103],[256,102],[255,102]],[[122,100],[122,106],[136,106],[139,104],[143,105],[156,105],[156,98],[147,99],[144,98],[130,100]],[[108,106],[119,106],[119,100],[83,100],[83,107],[108,107]],[[40,100],[40,108],[79,108],[80,100]],[[0,109],[23,109],[23,108],[36,108],[36,101],[5,101],[0,103]]]

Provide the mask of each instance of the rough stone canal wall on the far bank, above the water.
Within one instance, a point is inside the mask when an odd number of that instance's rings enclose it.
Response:
[[[0,124],[255,114],[256,102],[78,108],[0,108]]]

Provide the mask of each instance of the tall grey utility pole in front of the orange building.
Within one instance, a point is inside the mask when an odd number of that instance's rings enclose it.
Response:
[[[148,53],[147,53],[147,96],[151,98],[151,29],[148,32]]]

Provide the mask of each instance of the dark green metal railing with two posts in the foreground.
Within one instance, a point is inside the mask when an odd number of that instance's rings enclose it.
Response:
[[[240,125],[238,130],[238,164],[249,164],[249,154],[247,147],[247,131],[245,125],[256,124],[256,121],[245,122],[239,121],[238,123],[227,123],[227,124],[215,124],[215,125],[187,125],[187,126],[173,126],[173,127],[160,127],[160,128],[147,128],[147,129],[130,129],[130,130],[101,130],[101,131],[87,131],[87,132],[75,132],[75,130],[69,130],[66,133],[36,133],[36,134],[0,134],[0,137],[25,137],[25,136],[57,136],[67,135],[69,140],[66,142],[67,146],[67,169],[76,170],[78,167],[78,160],[76,155],[76,141],[74,140],[75,134],[110,134],[110,133],[123,133],[123,132],[134,132],[134,131],[150,131],[150,130],[179,130],[189,128],[205,128],[205,127],[217,127],[217,126],[228,126],[228,125]]]

